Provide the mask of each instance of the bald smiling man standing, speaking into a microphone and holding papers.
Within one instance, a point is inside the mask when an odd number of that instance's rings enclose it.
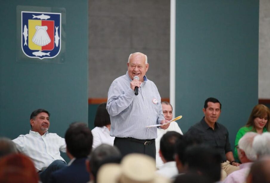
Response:
[[[110,135],[115,137],[114,146],[123,156],[143,153],[155,158],[157,127],[146,126],[168,122],[163,116],[158,89],[145,76],[148,68],[145,54],[130,54],[126,74],[116,78],[108,91]],[[160,127],[167,129],[169,124]]]

